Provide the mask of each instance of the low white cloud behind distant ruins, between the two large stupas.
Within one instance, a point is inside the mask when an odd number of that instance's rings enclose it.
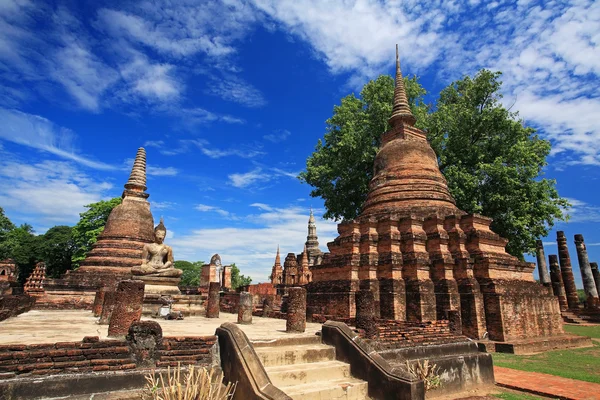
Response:
[[[300,207],[278,208],[267,204],[253,204],[259,212],[244,217],[251,227],[222,226],[197,229],[179,235],[170,245],[176,259],[208,260],[218,253],[224,264],[235,263],[242,274],[250,275],[253,282],[264,282],[271,273],[277,246],[283,257],[288,252],[300,253],[306,242],[309,211]],[[207,206],[211,207],[211,206]],[[320,248],[337,236],[337,224],[319,218],[322,210],[315,210]]]

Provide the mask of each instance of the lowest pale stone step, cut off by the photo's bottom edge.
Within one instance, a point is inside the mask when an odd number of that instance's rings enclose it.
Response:
[[[294,400],[366,400],[367,382],[355,378],[279,387]]]

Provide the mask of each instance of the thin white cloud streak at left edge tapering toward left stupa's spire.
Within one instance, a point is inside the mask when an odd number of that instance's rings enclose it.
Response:
[[[74,147],[75,134],[55,125],[39,115],[0,108],[0,139],[45,151],[86,167],[113,170],[116,167],[94,161],[80,154]]]

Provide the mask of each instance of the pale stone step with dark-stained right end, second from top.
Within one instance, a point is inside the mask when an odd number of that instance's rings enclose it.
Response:
[[[324,344],[257,347],[254,350],[265,368],[335,360],[335,348]]]

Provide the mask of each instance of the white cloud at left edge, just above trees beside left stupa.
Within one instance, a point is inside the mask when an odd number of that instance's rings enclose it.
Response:
[[[0,162],[0,204],[34,225],[74,224],[86,204],[106,198],[111,183],[91,178],[73,164]]]

